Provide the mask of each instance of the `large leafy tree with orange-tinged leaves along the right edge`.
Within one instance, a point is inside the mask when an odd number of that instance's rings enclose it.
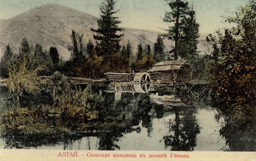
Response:
[[[236,17],[227,21],[237,27],[217,32],[211,60],[207,64],[208,81],[217,109],[227,118],[250,122],[255,117],[255,33],[256,2],[240,7]],[[214,40],[214,37],[212,38]]]

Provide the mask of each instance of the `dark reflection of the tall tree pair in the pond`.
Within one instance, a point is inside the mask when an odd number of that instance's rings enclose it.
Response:
[[[200,133],[198,122],[195,118],[194,107],[174,107],[175,124],[170,121],[169,135],[163,140],[166,147],[173,151],[193,151],[196,146],[196,136]]]

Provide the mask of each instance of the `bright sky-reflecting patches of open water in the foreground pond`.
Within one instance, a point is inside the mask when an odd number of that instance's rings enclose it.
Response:
[[[138,127],[141,127],[140,133],[133,131],[131,133],[125,133],[122,137],[113,141],[119,148],[114,147],[114,150],[171,150],[172,144],[168,147],[165,146],[164,136],[169,136],[172,132],[169,132],[170,120],[175,119],[175,114],[166,113],[161,119],[152,118],[152,131],[148,134],[147,129],[142,127],[140,123]],[[186,143],[189,144],[190,139],[195,139],[196,145],[193,147],[193,151],[219,151],[224,145],[225,141],[220,138],[218,132],[218,123],[213,118],[212,110],[198,110],[198,114],[195,114],[198,119],[200,127],[200,133],[195,138],[189,138]],[[189,120],[188,120],[189,121]],[[214,128],[214,130],[212,130]],[[111,129],[110,129],[111,130]],[[58,145],[46,145],[37,147],[35,149],[54,149],[54,150],[98,150],[99,144],[103,139],[110,139],[108,135],[111,133],[101,133],[99,137],[89,136],[83,137],[76,141],[70,141],[69,143],[61,142]],[[107,140],[109,141],[109,140]],[[103,141],[102,141],[103,142]],[[112,143],[111,143],[112,144]],[[178,146],[173,144],[173,146]],[[186,150],[186,148],[180,147],[177,150]]]

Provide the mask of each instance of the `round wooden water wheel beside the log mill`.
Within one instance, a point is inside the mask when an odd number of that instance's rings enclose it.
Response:
[[[152,89],[151,78],[148,73],[137,73],[134,76],[134,89],[138,93],[146,93]]]

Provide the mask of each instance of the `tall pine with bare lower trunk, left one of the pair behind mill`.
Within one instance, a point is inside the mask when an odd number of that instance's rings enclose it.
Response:
[[[170,25],[169,29],[166,30],[168,31],[166,36],[169,40],[175,41],[175,48],[172,51],[174,52],[174,59],[177,60],[179,55],[179,40],[182,37],[181,26],[183,24],[181,22],[186,18],[190,9],[188,7],[188,2],[185,2],[184,0],[166,0],[166,2],[172,11],[165,13],[163,21],[174,24],[172,26]]]

